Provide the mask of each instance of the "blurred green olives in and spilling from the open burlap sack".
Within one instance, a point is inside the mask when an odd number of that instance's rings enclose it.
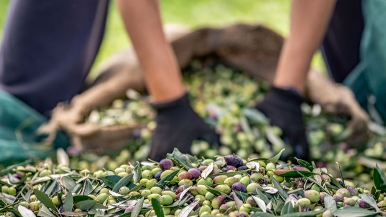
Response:
[[[205,141],[195,141],[191,154],[213,158],[215,155],[235,153],[241,158],[270,158],[283,147],[281,129],[269,125],[269,120],[254,109],[269,89],[266,82],[251,78],[242,71],[217,64],[211,59],[192,61],[183,72],[194,110],[221,136],[223,146],[212,148]],[[132,141],[117,162],[107,161],[113,168],[124,160],[144,160],[147,158],[151,141],[151,131],[155,129],[155,112],[148,97],[134,90],[127,92],[128,100],[115,100],[110,108],[94,110],[86,121],[101,125],[145,123],[146,127],[134,133]],[[368,142],[367,149],[350,149],[345,143],[349,130],[347,117],[327,115],[320,105],[302,106],[306,121],[306,133],[311,146],[312,159],[332,172],[338,161],[342,170],[350,171],[354,177],[365,171],[357,156],[367,156],[385,161],[386,137],[376,137]],[[289,147],[287,153],[291,154]],[[121,156],[123,155],[123,156]],[[97,158],[98,159],[98,158]],[[326,164],[332,163],[333,165]],[[102,165],[103,166],[103,165]],[[369,170],[369,169],[367,169]],[[370,177],[363,177],[364,181]]]

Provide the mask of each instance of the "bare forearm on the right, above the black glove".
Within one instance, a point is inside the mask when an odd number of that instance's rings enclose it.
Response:
[[[320,46],[336,0],[293,0],[291,29],[281,51],[274,85],[305,91],[312,56]]]

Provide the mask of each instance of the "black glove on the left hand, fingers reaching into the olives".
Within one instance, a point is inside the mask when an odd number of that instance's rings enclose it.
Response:
[[[151,159],[165,158],[174,147],[182,153],[190,153],[195,139],[219,144],[215,131],[190,107],[187,93],[171,102],[153,104],[153,107],[157,110],[157,127],[153,133]]]

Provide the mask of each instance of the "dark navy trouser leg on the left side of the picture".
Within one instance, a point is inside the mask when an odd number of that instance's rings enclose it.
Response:
[[[80,93],[101,44],[108,0],[13,0],[0,89],[48,116]]]

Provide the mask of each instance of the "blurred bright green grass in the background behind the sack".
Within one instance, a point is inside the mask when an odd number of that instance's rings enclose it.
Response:
[[[0,40],[2,39],[10,0],[0,1]],[[163,22],[182,24],[192,29],[203,26],[223,26],[237,22],[264,24],[286,36],[289,31],[288,0],[160,0]],[[94,67],[112,54],[130,45],[114,2],[110,2],[105,37]],[[312,65],[325,71],[320,54]],[[93,70],[91,70],[93,71]],[[95,73],[91,72],[91,77]]]

